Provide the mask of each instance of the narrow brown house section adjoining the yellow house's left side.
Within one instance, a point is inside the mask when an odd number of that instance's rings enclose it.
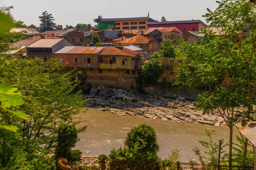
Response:
[[[105,47],[88,47],[80,53],[81,68],[86,71],[88,68],[93,70],[99,69],[99,54]]]

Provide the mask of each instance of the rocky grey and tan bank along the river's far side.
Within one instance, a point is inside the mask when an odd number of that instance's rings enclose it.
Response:
[[[92,88],[84,99],[88,107],[99,108],[99,111],[111,111],[121,116],[141,115],[150,119],[172,120],[177,122],[195,122],[207,125],[226,125],[217,113],[202,115],[197,110],[197,100],[175,94],[145,95],[129,93],[121,89]]]

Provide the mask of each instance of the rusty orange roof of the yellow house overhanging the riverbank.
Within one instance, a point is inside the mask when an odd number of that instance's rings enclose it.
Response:
[[[136,57],[140,53],[122,47],[105,47],[100,55]]]

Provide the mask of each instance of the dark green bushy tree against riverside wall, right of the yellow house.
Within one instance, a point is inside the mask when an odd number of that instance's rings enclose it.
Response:
[[[144,85],[149,86],[157,82],[163,73],[161,59],[151,59],[141,66],[140,78],[143,79]]]

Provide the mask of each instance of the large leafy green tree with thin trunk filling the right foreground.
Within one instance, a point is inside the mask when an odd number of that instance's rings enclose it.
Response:
[[[256,104],[256,31],[252,21],[256,18],[256,6],[248,1],[222,0],[212,12],[207,8],[207,22],[221,29],[218,37],[212,31],[205,34],[203,44],[183,45],[187,51],[185,65],[175,70],[176,85],[197,88],[207,84],[208,91],[199,95],[197,107],[204,114],[217,113],[230,128],[229,166],[232,165],[233,127],[236,123],[255,120]],[[241,30],[247,35],[240,40]],[[228,37],[227,37],[228,35]],[[243,88],[240,88],[243,87]],[[244,142],[246,160],[247,142]]]

